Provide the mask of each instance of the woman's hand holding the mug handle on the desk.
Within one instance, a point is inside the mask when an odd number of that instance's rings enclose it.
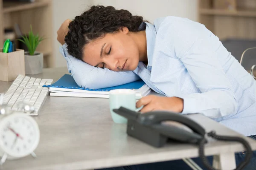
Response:
[[[183,99],[179,97],[161,97],[155,95],[148,95],[141,98],[137,103],[136,107],[140,108],[141,113],[149,111],[172,111],[181,113],[183,111]]]

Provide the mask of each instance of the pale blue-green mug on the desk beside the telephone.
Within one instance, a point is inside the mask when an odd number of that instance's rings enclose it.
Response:
[[[121,106],[132,111],[140,111],[142,107],[136,108],[136,93],[131,89],[116,89],[109,92],[109,107],[111,117],[115,123],[127,123],[127,119],[113,112],[113,109],[118,109]]]

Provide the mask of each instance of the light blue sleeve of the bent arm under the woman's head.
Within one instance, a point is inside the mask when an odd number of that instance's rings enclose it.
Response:
[[[67,44],[59,48],[67,61],[68,71],[82,88],[107,88],[139,80],[133,71],[111,71],[108,68],[97,68],[81,61],[67,52]]]

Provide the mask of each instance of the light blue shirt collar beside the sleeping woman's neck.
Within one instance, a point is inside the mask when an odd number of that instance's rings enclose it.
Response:
[[[148,65],[147,69],[151,71],[152,68],[152,58],[153,58],[153,51],[154,51],[154,44],[156,39],[156,29],[154,25],[148,22],[141,23],[139,30],[145,30],[146,31],[146,37],[147,37],[147,54],[148,54]]]

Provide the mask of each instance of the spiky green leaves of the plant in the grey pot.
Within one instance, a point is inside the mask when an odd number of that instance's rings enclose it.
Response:
[[[26,45],[29,51],[29,55],[34,55],[38,44],[40,44],[40,42],[45,39],[43,37],[39,37],[38,34],[36,35],[33,34],[31,25],[30,25],[30,31],[29,31],[28,37],[26,36],[26,34],[25,36],[21,36],[21,37],[23,38],[23,40],[22,39],[18,39],[18,40],[23,42]]]

